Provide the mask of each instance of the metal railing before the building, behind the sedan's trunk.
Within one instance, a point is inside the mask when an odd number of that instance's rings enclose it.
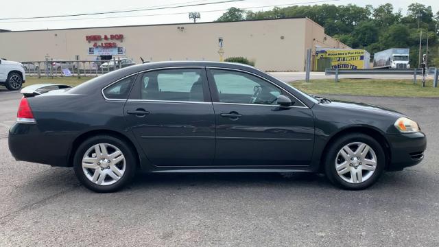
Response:
[[[113,60],[40,60],[40,61],[23,61],[27,76],[41,77],[62,77],[65,76],[62,69],[69,69],[71,76],[94,77],[103,75],[110,71],[121,69],[120,59]],[[104,64],[104,66],[103,66]]]

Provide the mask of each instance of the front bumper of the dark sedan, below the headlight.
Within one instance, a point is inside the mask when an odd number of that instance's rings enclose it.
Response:
[[[389,171],[400,171],[405,167],[417,165],[424,158],[427,137],[423,132],[388,135],[391,159]]]

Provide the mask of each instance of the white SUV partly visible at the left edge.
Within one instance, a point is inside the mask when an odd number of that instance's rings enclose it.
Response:
[[[19,90],[25,83],[25,76],[23,64],[0,59],[0,85],[9,90]]]

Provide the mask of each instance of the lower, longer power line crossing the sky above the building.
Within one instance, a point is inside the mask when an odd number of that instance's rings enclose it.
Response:
[[[256,8],[269,8],[269,7],[279,7],[279,6],[291,6],[291,5],[299,5],[299,4],[311,4],[311,3],[326,3],[326,2],[334,2],[341,0],[321,0],[321,1],[307,1],[300,3],[286,3],[286,4],[278,4],[278,5],[263,5],[257,7],[248,7],[248,8],[240,8],[241,10],[251,10]],[[226,11],[228,9],[222,10],[204,10],[198,11],[200,13],[207,12],[221,12]],[[158,13],[158,14],[138,14],[138,15],[130,15],[130,16],[106,16],[106,17],[95,17],[95,18],[76,18],[76,19],[60,19],[60,20],[43,20],[43,21],[1,21],[0,23],[27,23],[27,22],[47,22],[47,21],[82,21],[82,20],[98,20],[98,19],[117,19],[117,18],[134,18],[134,17],[145,17],[145,16],[164,16],[164,15],[178,15],[178,14],[187,14],[188,12],[174,12],[174,13]]]

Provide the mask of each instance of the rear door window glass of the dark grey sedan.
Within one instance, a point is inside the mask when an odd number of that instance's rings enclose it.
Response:
[[[141,99],[204,102],[202,69],[163,69],[144,73]]]

